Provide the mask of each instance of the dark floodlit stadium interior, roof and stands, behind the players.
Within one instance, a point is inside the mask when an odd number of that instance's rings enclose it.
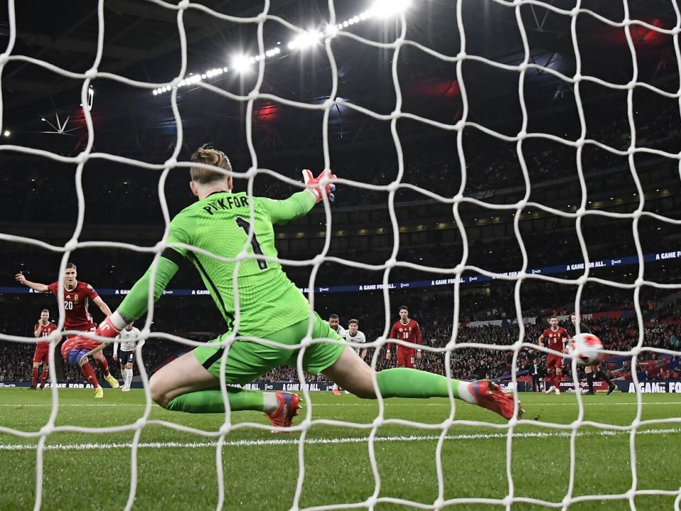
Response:
[[[39,12],[36,0],[16,3],[17,39],[14,55],[40,58],[74,72],[92,66],[96,50],[96,3],[77,4],[69,13]],[[204,5],[236,16],[252,16],[260,6],[248,1],[209,1]],[[448,36],[455,26],[455,10],[445,9],[446,1],[423,1],[407,13],[406,38],[446,55],[456,55],[459,38]],[[554,4],[569,8],[574,2]],[[605,5],[604,5],[605,4]],[[621,19],[621,5],[614,2],[582,2],[611,19]],[[524,59],[514,10],[493,1],[463,2],[469,54],[484,55],[506,65]],[[629,1],[630,16],[655,26],[670,28],[676,16],[670,2]],[[365,7],[360,1],[336,5],[337,16],[348,18]],[[524,6],[530,61],[565,75],[575,72],[569,16],[536,7]],[[74,14],[77,13],[77,14]],[[328,18],[325,2],[279,1],[270,13],[306,26],[311,20]],[[6,14],[6,13],[5,13]],[[106,1],[106,37],[99,71],[116,72],[131,79],[162,83],[170,81],[181,62],[175,13],[146,2]],[[505,30],[490,31],[490,17],[508,23]],[[0,18],[1,19],[1,18]],[[31,19],[31,23],[28,20]],[[184,15],[187,28],[187,72],[201,72],[216,66],[230,66],[228,58],[237,51],[257,52],[255,23],[239,24],[217,20],[209,14],[190,9]],[[495,27],[504,23],[495,23]],[[391,40],[397,23],[386,21],[379,35],[376,25],[358,23],[351,28],[377,40]],[[350,29],[348,29],[350,30]],[[672,94],[680,89],[678,60],[672,38],[632,26],[636,50],[638,81]],[[632,76],[631,55],[623,31],[615,30],[595,18],[580,16],[577,23],[582,75],[592,75],[616,84],[626,84]],[[0,50],[4,51],[8,25],[0,23]],[[330,62],[323,47],[294,51],[286,48],[292,31],[274,21],[264,27],[265,48],[282,41],[282,51],[268,59],[261,92],[309,104],[321,104],[331,91]],[[587,212],[632,213],[641,206],[670,219],[681,219],[681,194],[678,158],[650,152],[637,152],[629,158],[616,155],[592,143],[577,151],[573,145],[527,138],[522,143],[529,182],[521,170],[515,142],[505,142],[474,126],[465,126],[457,146],[457,131],[444,130],[414,119],[400,118],[396,133],[404,156],[404,173],[394,193],[394,211],[399,229],[394,230],[389,216],[393,200],[386,189],[398,177],[399,160],[391,124],[356,111],[348,104],[389,114],[396,101],[392,82],[392,50],[362,45],[351,38],[337,37],[331,43],[338,66],[337,106],[328,123],[331,168],[345,180],[338,185],[337,200],[331,206],[331,245],[328,257],[338,260],[323,263],[314,285],[377,284],[382,282],[383,265],[396,241],[399,263],[389,273],[389,282],[411,282],[453,277],[452,269],[462,262],[467,237],[465,264],[489,272],[521,269],[523,256],[514,232],[515,215],[520,214],[519,232],[527,254],[527,268],[583,263],[575,217],[550,214],[536,207],[516,211],[513,204],[523,199],[561,211],[574,212],[585,197]],[[255,67],[239,74],[226,72],[206,82],[235,94],[246,94],[255,84]],[[412,45],[400,50],[397,66],[402,92],[402,111],[454,126],[464,114],[463,87],[467,97],[467,118],[489,129],[515,136],[521,130],[523,115],[518,94],[519,73],[482,62],[463,62],[463,84],[455,62],[446,62]],[[87,129],[80,106],[81,79],[70,79],[23,61],[10,61],[2,72],[3,133],[1,144],[21,145],[74,157],[87,144]],[[94,153],[109,153],[146,163],[163,163],[178,143],[177,125],[170,108],[170,94],[153,94],[150,89],[131,87],[111,79],[92,82],[94,101]],[[585,118],[585,136],[620,151],[631,145],[661,150],[676,155],[681,150],[681,116],[678,99],[663,97],[643,87],[633,89],[633,126],[627,111],[628,91],[615,90],[594,82],[581,82],[579,90],[542,70],[530,69],[524,77],[524,102],[528,133],[550,133],[565,141],[580,138],[577,99]],[[295,109],[277,101],[258,99],[253,115],[247,119],[246,104],[222,97],[198,86],[178,89],[177,104],[182,117],[183,136],[180,160],[189,160],[199,145],[211,142],[223,149],[238,172],[253,165],[248,151],[245,123],[253,126],[253,146],[258,168],[271,169],[292,180],[299,180],[303,168],[323,168],[322,111]],[[8,134],[9,133],[9,134]],[[465,185],[462,190],[461,155],[465,157]],[[577,162],[582,165],[582,189]],[[635,168],[640,189],[632,175]],[[29,155],[0,146],[0,232],[28,236],[58,247],[72,237],[78,218],[75,163],[60,163],[45,156]],[[79,241],[117,241],[138,246],[154,246],[160,240],[164,223],[158,182],[161,172],[135,165],[91,158],[84,165],[84,224]],[[172,217],[193,200],[184,168],[170,171],[165,182],[165,198]],[[245,191],[248,180],[235,178],[236,191]],[[287,197],[301,189],[261,172],[253,179],[253,192],[272,198]],[[456,221],[451,202],[442,202],[423,190],[452,199],[460,191],[487,204],[509,204],[507,209],[492,209],[462,203]],[[643,192],[643,197],[641,197]],[[277,231],[279,256],[287,260],[309,260],[321,253],[326,219],[318,207],[308,216]],[[634,223],[630,217],[612,218],[595,214],[582,217],[581,229],[589,260],[616,260],[650,253],[681,254],[681,232],[677,225],[643,215]],[[633,235],[638,231],[640,246]],[[40,309],[50,309],[52,319],[57,307],[51,295],[29,295],[20,289],[13,275],[22,270],[29,280],[49,283],[57,278],[62,253],[28,243],[0,241],[0,332],[30,337]],[[97,290],[128,289],[143,274],[152,254],[118,248],[78,248],[69,258],[78,265],[79,280]],[[375,265],[373,270],[353,268],[339,262]],[[678,284],[679,258],[653,260],[645,264],[643,278],[661,284]],[[427,268],[432,268],[428,271]],[[443,273],[443,269],[449,269]],[[285,268],[299,287],[310,285],[311,265]],[[633,285],[640,275],[638,264],[607,265],[591,268],[590,277]],[[464,276],[477,275],[471,268]],[[581,271],[554,273],[554,277],[574,279]],[[204,289],[198,275],[187,265],[170,287]],[[341,324],[351,317],[360,320],[360,329],[369,341],[384,335],[397,319],[397,307],[406,304],[410,315],[421,325],[428,346],[444,346],[453,334],[453,309],[460,307],[460,322],[514,319],[519,316],[514,302],[512,280],[472,282],[460,285],[406,287],[390,290],[389,303],[381,290],[362,292],[321,292],[315,294],[315,309],[322,317],[336,313]],[[569,314],[575,308],[576,285],[561,285],[527,278],[520,286],[521,315],[533,319],[526,340],[536,341],[550,314]],[[642,286],[619,288],[607,282],[588,282],[582,292],[582,313],[625,312],[594,319],[594,331],[611,349],[628,350],[638,343],[639,325],[633,310],[638,300],[643,311],[644,346],[678,350],[679,292]],[[121,295],[103,295],[111,309]],[[388,317],[386,312],[388,311]],[[96,307],[95,321],[101,320]],[[140,319],[138,324],[141,324]],[[464,326],[458,341],[511,344],[518,339],[517,326]],[[165,296],[155,309],[153,331],[163,331],[187,339],[206,340],[223,331],[218,312],[207,296]],[[152,372],[188,347],[151,339],[144,347],[145,366]],[[0,341],[0,382],[26,382],[30,379],[33,346]],[[111,353],[111,348],[108,349]],[[519,358],[521,370],[536,356],[525,350]],[[653,355],[639,377],[678,378],[677,358],[657,360]],[[442,353],[426,353],[421,368],[444,371]],[[511,352],[493,350],[456,350],[452,357],[457,378],[494,378],[511,373]],[[112,364],[116,366],[116,364]],[[378,368],[386,366],[380,356]],[[610,363],[615,376],[631,378],[626,361]],[[118,368],[115,368],[118,371]],[[135,373],[137,371],[135,370]],[[116,374],[116,373],[114,373]],[[77,381],[79,373],[65,370],[65,378]],[[297,380],[292,369],[279,368],[265,378]]]

